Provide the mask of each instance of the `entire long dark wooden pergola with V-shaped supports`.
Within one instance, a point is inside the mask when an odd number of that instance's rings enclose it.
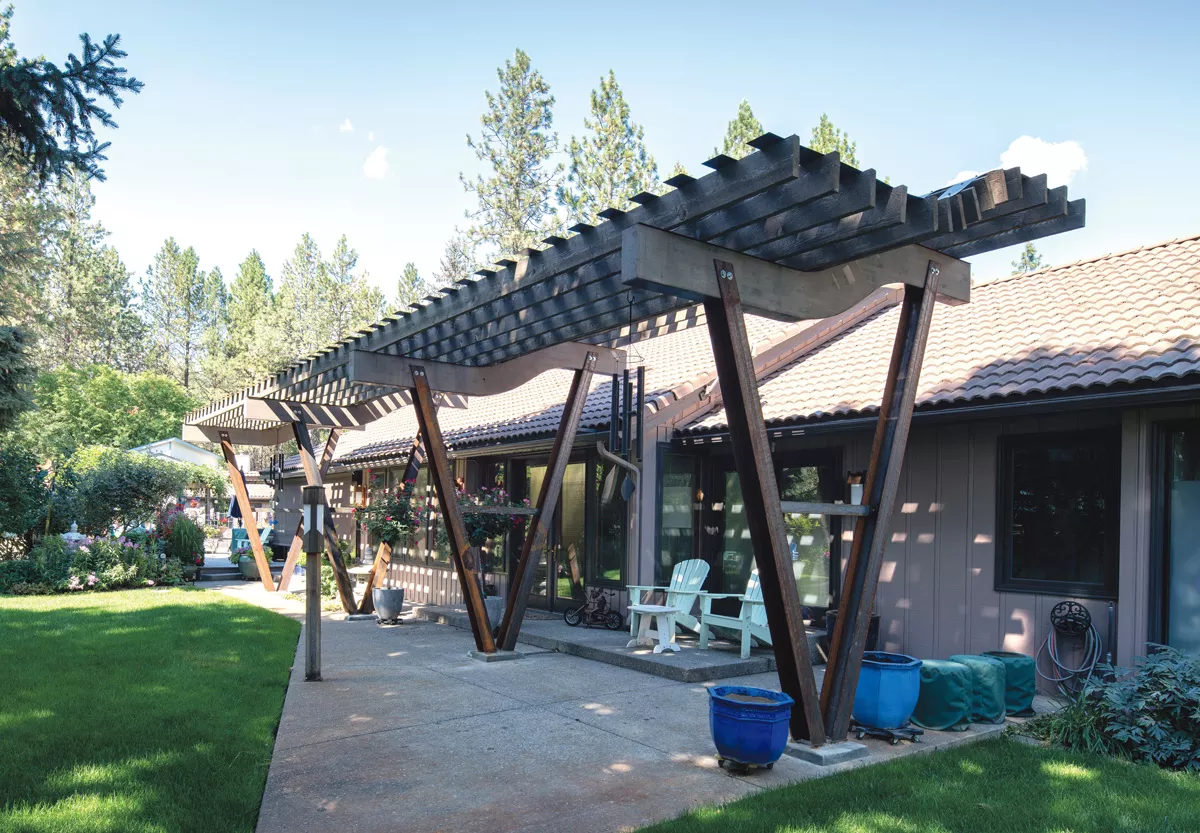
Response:
[[[424,453],[476,648],[511,651],[592,376],[624,367],[620,346],[707,324],[780,684],[798,706],[792,711],[792,735],[814,745],[844,739],[935,301],[970,299],[971,269],[960,258],[1080,228],[1085,205],[1082,199],[1068,202],[1066,187],[1048,188],[1044,175],[1027,176],[1016,168],[913,196],[905,186],[881,181],[874,170],[841,163],[835,152],[804,148],[796,136],[767,133],[750,144],[756,150],[744,158],[716,156],[704,163],[712,172],[702,178],[673,176],[666,193],[636,194],[631,210],[610,208],[598,226],[578,223],[570,236],[548,236],[542,248],[528,248],[518,260],[482,269],[190,414],[184,438],[222,445],[247,513],[245,486],[233,463],[234,443],[295,438],[308,485],[319,485],[341,431],[361,429],[412,403],[420,439],[409,466]],[[904,301],[864,505],[808,509],[852,516],[856,523],[818,694],[743,313],[750,310],[782,320],[823,318],[894,283],[904,284]],[[556,367],[572,370],[574,377],[504,618],[493,635],[479,565],[455,499],[434,391],[497,394]],[[308,439],[312,427],[331,429],[320,459]],[[353,612],[354,597],[331,528],[325,538],[342,604]],[[254,531],[251,545],[270,589]],[[284,582],[299,538],[292,550]],[[380,547],[371,580],[389,557],[385,550]],[[368,587],[365,607],[370,599]]]

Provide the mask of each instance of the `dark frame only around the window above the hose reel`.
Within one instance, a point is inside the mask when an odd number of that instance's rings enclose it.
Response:
[[[1115,449],[1110,484],[1112,550],[1104,564],[1104,582],[1079,583],[1070,581],[1034,581],[1010,579],[1009,563],[1013,547],[1013,472],[1012,449],[1016,447],[1054,445],[1064,441],[1099,441]],[[1061,595],[1081,599],[1115,601],[1121,567],[1121,430],[1087,429],[1082,431],[1054,431],[1045,433],[1001,435],[996,443],[996,558],[994,589],[997,593],[1028,593],[1031,595]]]

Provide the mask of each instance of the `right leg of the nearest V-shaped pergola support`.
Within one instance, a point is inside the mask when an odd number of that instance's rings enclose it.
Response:
[[[845,739],[850,729],[850,713],[858,688],[880,568],[900,489],[908,429],[920,382],[920,365],[934,318],[940,266],[937,262],[929,262],[925,286],[906,286],[900,307],[900,323],[892,347],[888,378],[863,489],[864,503],[870,511],[854,525],[854,540],[838,605],[838,624],[830,637],[829,664],[821,689],[824,729],[833,741]]]

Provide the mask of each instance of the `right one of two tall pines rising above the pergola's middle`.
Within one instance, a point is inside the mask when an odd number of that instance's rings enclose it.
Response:
[[[630,121],[629,104],[612,70],[592,90],[592,118],[583,120],[590,136],[571,137],[566,182],[558,199],[572,220],[595,226],[606,208],[658,185],[659,169],[646,152],[642,126]]]

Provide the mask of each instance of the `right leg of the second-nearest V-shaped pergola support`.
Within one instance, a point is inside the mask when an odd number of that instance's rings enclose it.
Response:
[[[550,451],[547,473],[541,481],[541,491],[538,495],[536,514],[529,523],[529,528],[526,529],[524,541],[521,545],[521,557],[512,573],[508,601],[504,605],[504,618],[500,621],[498,631],[500,648],[504,651],[512,651],[516,647],[517,636],[521,635],[521,623],[529,603],[529,591],[533,589],[535,568],[546,551],[550,527],[553,523],[558,498],[563,492],[566,463],[571,459],[575,436],[578,433],[580,421],[583,416],[583,404],[587,402],[588,390],[592,386],[593,368],[598,364],[598,353],[599,350],[589,352],[571,378],[571,389],[566,395],[563,415],[559,418],[558,431],[554,435],[554,444]]]

